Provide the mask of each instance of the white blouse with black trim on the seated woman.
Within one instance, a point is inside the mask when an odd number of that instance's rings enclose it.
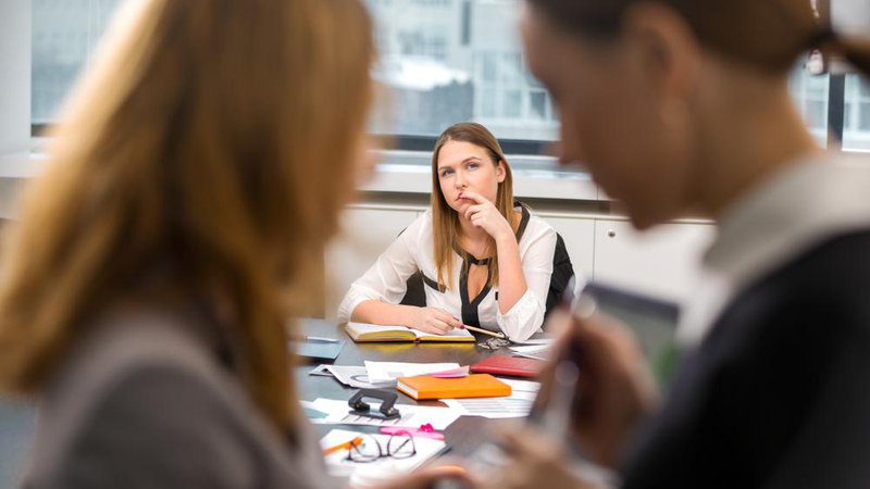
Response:
[[[505,314],[498,309],[498,287],[486,286],[476,298],[468,297],[467,277],[462,274],[462,258],[453,253],[455,262],[449,290],[437,290],[432,211],[418,217],[384,251],[365,274],[358,278],[338,306],[338,319],[350,321],[357,306],[368,300],[398,304],[405,297],[407,280],[415,272],[423,274],[426,305],[443,309],[463,324],[489,330],[501,330],[514,341],[523,341],[540,330],[547,292],[552,274],[556,230],[542,218],[522,208],[520,224],[520,261],[526,291]]]

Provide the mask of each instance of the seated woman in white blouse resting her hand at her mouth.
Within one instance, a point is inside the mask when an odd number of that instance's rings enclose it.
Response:
[[[512,180],[486,127],[445,129],[432,154],[432,209],[351,285],[339,319],[435,334],[468,325],[518,341],[538,331],[574,272],[552,227],[514,202]],[[415,283],[425,304],[400,304]]]

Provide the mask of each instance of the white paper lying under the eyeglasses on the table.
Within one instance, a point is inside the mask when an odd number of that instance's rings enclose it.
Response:
[[[320,446],[322,449],[335,447],[340,443],[353,440],[357,437],[363,437],[363,443],[376,442],[381,446],[381,450],[387,451],[387,443],[389,442],[389,435],[370,435],[358,431],[348,431],[344,429],[333,429],[326,434],[321,440]],[[437,455],[447,446],[442,440],[434,440],[431,438],[413,439],[414,449],[417,454],[408,459],[394,459],[385,456],[377,459],[373,462],[353,462],[347,460],[347,450],[338,450],[328,455],[324,455],[326,460],[326,468],[330,474],[337,477],[351,477],[355,473],[363,471],[366,473],[377,471],[383,474],[395,474],[396,476],[402,473],[411,472],[419,467],[423,462]],[[371,447],[365,447],[364,450],[371,450]],[[374,449],[377,450],[376,448]]]

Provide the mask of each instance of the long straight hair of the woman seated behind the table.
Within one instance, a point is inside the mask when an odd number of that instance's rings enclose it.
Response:
[[[513,212],[513,175],[510,171],[508,159],[501,151],[498,139],[489,133],[489,129],[477,123],[458,123],[448,127],[435,141],[435,149],[432,151],[432,193],[430,202],[432,205],[432,235],[434,238],[435,267],[438,271],[438,286],[447,290],[452,288],[450,277],[453,273],[455,250],[459,250],[460,258],[465,259],[465,252],[459,247],[459,214],[447,204],[442,187],[438,181],[438,153],[448,141],[464,141],[484,148],[493,161],[498,166],[499,162],[505,165],[505,180],[498,184],[495,206],[505,216],[511,228],[517,231],[520,220]],[[486,249],[494,252],[489,256],[489,273],[487,284],[498,284],[498,255],[495,253],[496,243],[490,236],[487,240]],[[464,266],[464,264],[463,264]]]

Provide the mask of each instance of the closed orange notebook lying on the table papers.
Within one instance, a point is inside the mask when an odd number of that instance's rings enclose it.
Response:
[[[510,396],[510,386],[489,374],[472,374],[458,378],[436,378],[428,375],[399,377],[396,388],[420,399],[498,398]]]

